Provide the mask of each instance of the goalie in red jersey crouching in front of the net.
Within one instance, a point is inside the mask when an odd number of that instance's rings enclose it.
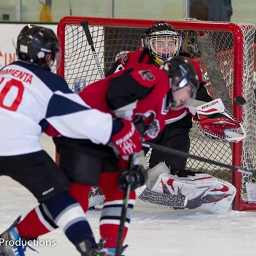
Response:
[[[141,41],[143,49],[139,51],[128,52],[124,57],[119,58],[113,67],[107,72],[107,76],[120,70],[124,70],[124,68],[129,68],[132,65],[136,65],[138,63],[148,63],[150,65],[159,66],[167,58],[173,58],[174,56],[179,56],[182,54],[180,52],[182,37],[170,24],[165,22],[157,22],[148,28],[145,31],[145,34],[142,36]],[[242,125],[238,124],[237,120],[235,120],[233,117],[230,117],[230,115],[225,116],[227,119],[221,119],[223,118],[223,113],[224,115],[227,113],[221,100],[216,99],[212,101],[211,96],[205,88],[205,79],[199,65],[189,58],[188,60],[191,61],[191,63],[194,65],[200,81],[200,86],[196,93],[196,100],[198,100],[198,102],[196,102],[196,106],[198,106],[198,108],[193,106],[185,106],[184,104],[183,106],[179,106],[179,108],[170,109],[165,118],[166,125],[163,131],[161,131],[157,138],[151,142],[163,145],[164,147],[170,147],[183,152],[188,152],[190,147],[189,129],[192,127],[192,115],[195,116],[195,118],[198,120],[198,126],[200,127],[200,131],[202,131],[203,134],[216,140],[222,141],[237,142],[242,140],[244,138]],[[120,87],[122,87],[122,85]],[[208,106],[206,102],[210,101],[212,101],[213,105],[215,104],[214,106],[216,108],[209,108],[209,106],[212,104]],[[205,115],[205,113],[202,114],[202,108],[209,109],[209,113],[207,115]],[[202,115],[198,115],[196,111]],[[215,115],[216,118],[212,118],[213,115]],[[230,118],[232,120],[230,120]],[[223,125],[220,125],[220,122],[222,122]],[[233,127],[233,131],[239,131],[236,135],[231,137],[226,136],[225,134],[225,132],[230,129],[230,124],[232,124],[231,126]],[[184,186],[184,184],[186,185],[186,182],[188,182],[188,184],[193,182],[194,186],[188,186],[190,190],[188,190],[188,188],[187,190],[185,189],[186,192],[184,192],[184,195],[188,196],[190,200],[189,202],[195,198],[199,198],[200,200],[198,200],[196,203],[194,200],[193,205],[189,204],[189,209],[198,208],[211,212],[224,213],[228,211],[230,204],[236,195],[236,188],[234,188],[232,184],[222,180],[217,180],[211,175],[206,175],[205,179],[210,180],[211,177],[211,182],[209,182],[207,186],[205,185],[206,192],[204,191],[204,193],[202,193],[200,189],[197,189],[200,188],[200,182],[196,182],[197,177],[191,177],[191,175],[194,175],[194,173],[189,172],[190,175],[188,175],[188,172],[184,171],[186,167],[186,158],[184,157],[172,156],[164,152],[152,150],[149,166],[150,168],[154,168],[149,172],[150,177],[152,177],[154,182],[159,182],[160,184],[159,189],[155,189],[152,188],[153,186],[149,186],[149,188],[153,189],[154,192],[165,193],[163,190],[161,190],[161,184],[164,184],[163,182],[166,182],[168,179],[166,177],[166,179],[161,179],[161,177],[159,177],[159,180],[157,180],[157,178],[161,174],[168,176],[168,174],[166,174],[167,170],[169,170],[169,173],[173,174],[173,177],[169,178],[176,180],[175,184],[177,184],[177,189],[175,191],[180,191],[179,186]],[[181,179],[188,178],[188,181],[186,181],[186,179],[179,180],[179,177]],[[202,180],[202,177],[199,178],[198,180]],[[152,180],[148,180],[148,183],[152,183]],[[202,186],[204,185],[203,183],[204,182],[202,182]],[[221,193],[218,192],[218,188],[222,188],[222,186],[227,188],[225,193],[223,193],[223,191]],[[157,184],[155,187],[157,187]],[[99,191],[99,189],[96,191]],[[99,194],[99,192],[97,193]],[[93,193],[91,193],[90,207],[101,204],[103,198],[104,195],[93,196]],[[150,198],[147,198],[147,201],[150,202]]]

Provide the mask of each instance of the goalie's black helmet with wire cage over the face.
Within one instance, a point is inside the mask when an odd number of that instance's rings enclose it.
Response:
[[[173,26],[163,21],[146,29],[141,36],[143,48],[148,49],[150,57],[158,66],[163,65],[164,60],[179,54],[181,42],[182,37]]]

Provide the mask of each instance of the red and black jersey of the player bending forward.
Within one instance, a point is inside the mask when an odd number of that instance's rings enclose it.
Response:
[[[169,84],[164,70],[140,64],[88,85],[79,95],[91,108],[113,117],[134,120],[143,115],[144,138],[152,140],[165,125],[164,96],[170,90]]]

